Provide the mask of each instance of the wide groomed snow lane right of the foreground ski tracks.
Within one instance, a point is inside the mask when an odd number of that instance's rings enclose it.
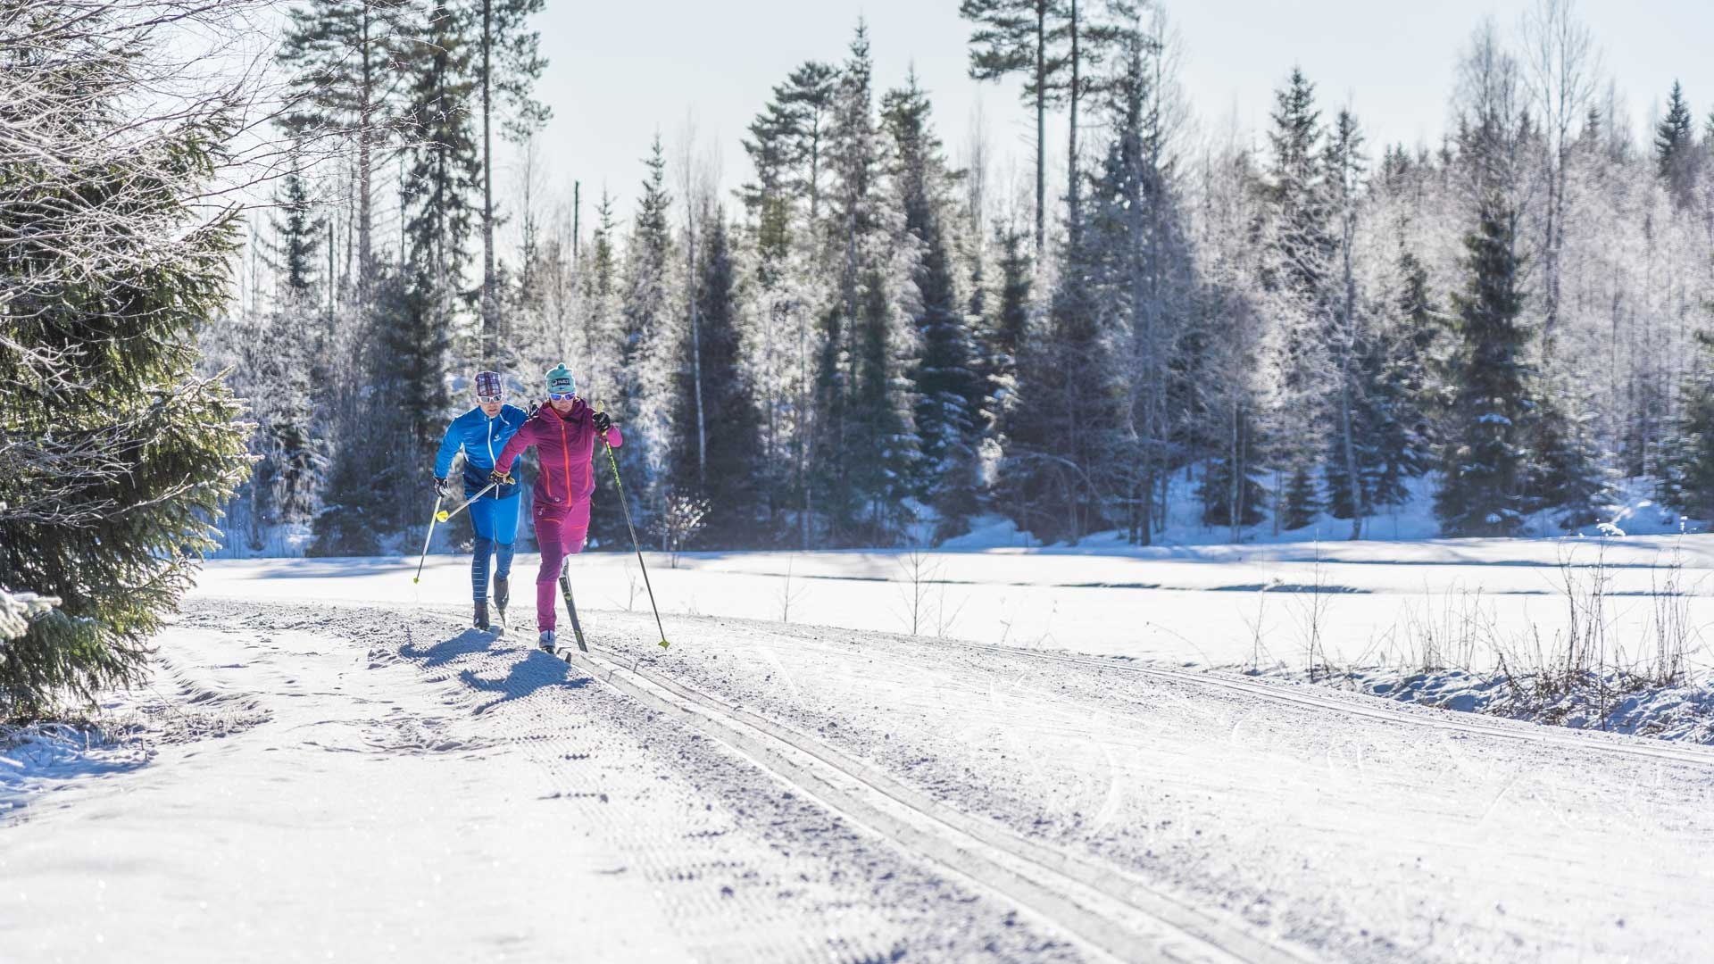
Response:
[[[1700,748],[734,619],[675,619],[674,655],[655,657],[646,616],[600,626],[598,659],[1284,952],[1685,959],[1714,937]]]

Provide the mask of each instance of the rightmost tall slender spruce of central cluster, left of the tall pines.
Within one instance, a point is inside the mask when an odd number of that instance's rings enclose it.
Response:
[[[977,513],[977,444],[982,437],[982,381],[970,317],[963,312],[956,261],[956,201],[953,172],[929,122],[929,99],[912,74],[903,89],[881,101],[891,182],[905,211],[917,259],[912,281],[917,304],[910,324],[919,358],[914,381],[920,458],[914,467],[915,494],[936,515],[938,540],[962,535]]]

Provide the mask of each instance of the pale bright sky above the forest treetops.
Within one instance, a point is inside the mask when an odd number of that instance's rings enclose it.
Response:
[[[1378,146],[1436,141],[1471,31],[1493,15],[1513,34],[1531,2],[1169,0],[1167,12],[1203,127],[1236,117],[1260,132],[1272,91],[1299,63],[1323,106],[1349,103]],[[1714,3],[1580,0],[1577,9],[1639,130],[1675,77],[1699,118],[1714,106]],[[687,117],[718,146],[725,185],[742,182],[749,163],[739,139],[773,84],[802,60],[842,60],[859,15],[869,22],[879,89],[900,84],[914,63],[955,154],[980,101],[992,151],[1004,154],[996,178],[1027,166],[1030,125],[1016,86],[965,75],[970,27],[958,0],[547,0],[538,22],[550,60],[542,96],[555,115],[543,136],[550,184],[569,197],[572,178],[583,182],[588,225],[605,182],[627,218],[650,137],[658,129],[670,149]]]

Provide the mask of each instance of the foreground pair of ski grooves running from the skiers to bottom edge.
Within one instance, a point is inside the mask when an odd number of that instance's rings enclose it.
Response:
[[[732,746],[854,823],[998,892],[1100,955],[1138,962],[1309,961],[1135,877],[946,806],[819,739],[643,669],[641,660],[624,660],[603,647],[562,657],[639,703]]]

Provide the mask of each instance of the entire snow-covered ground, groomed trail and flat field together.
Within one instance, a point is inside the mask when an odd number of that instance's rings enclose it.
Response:
[[[1585,551],[1615,647],[1714,621],[1714,537],[687,554],[662,652],[588,554],[560,662],[454,557],[216,563],[106,743],[0,753],[0,959],[1699,959],[1714,750],[1207,671],[1551,638]]]

